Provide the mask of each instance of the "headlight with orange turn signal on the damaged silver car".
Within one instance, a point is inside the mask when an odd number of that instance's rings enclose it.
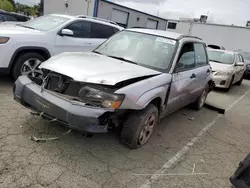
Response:
[[[86,103],[103,108],[117,109],[122,104],[125,95],[101,91],[84,86],[79,91],[79,97]]]

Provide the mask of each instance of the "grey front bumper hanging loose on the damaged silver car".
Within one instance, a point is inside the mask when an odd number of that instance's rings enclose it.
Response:
[[[20,76],[13,87],[14,99],[23,106],[56,119],[71,129],[89,133],[107,132],[106,116],[113,109],[87,106],[43,90],[27,76]]]

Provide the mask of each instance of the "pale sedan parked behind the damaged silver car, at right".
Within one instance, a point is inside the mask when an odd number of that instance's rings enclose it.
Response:
[[[233,84],[241,85],[245,64],[239,53],[208,49],[208,57],[213,71],[215,87],[229,91]]]

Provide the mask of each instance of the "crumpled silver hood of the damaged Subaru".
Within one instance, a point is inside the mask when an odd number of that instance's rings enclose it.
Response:
[[[91,52],[62,53],[42,63],[48,69],[80,82],[115,85],[160,72]]]

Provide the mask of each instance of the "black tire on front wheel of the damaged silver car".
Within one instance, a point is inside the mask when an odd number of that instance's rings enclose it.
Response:
[[[141,144],[139,138],[141,136],[142,131],[144,131],[146,127],[146,121],[150,119],[150,117],[154,116],[155,121],[152,125],[152,132],[149,135],[148,139],[145,143]],[[125,121],[122,131],[121,131],[121,141],[127,144],[131,149],[140,148],[145,145],[150,139],[154,127],[158,123],[158,109],[155,105],[149,104],[145,109],[141,111],[132,112],[127,120]]]

